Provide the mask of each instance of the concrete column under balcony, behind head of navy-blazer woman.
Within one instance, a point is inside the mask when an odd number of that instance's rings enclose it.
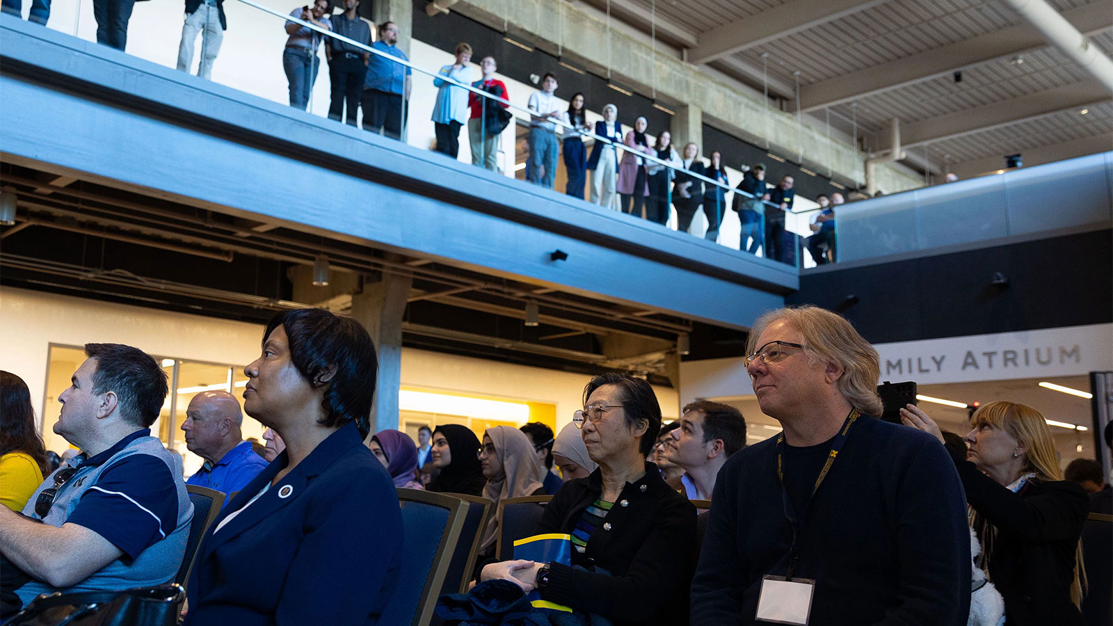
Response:
[[[378,351],[378,375],[371,409],[371,432],[398,428],[402,385],[402,315],[413,278],[384,274],[352,296],[352,317],[363,324]]]

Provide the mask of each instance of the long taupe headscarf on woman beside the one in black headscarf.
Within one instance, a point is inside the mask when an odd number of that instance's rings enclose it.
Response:
[[[486,487],[483,488],[483,495],[494,502],[495,508],[503,498],[532,496],[534,491],[541,489],[545,469],[534,453],[530,438],[509,426],[496,426],[486,429],[485,432],[494,444],[494,453],[502,461],[502,475],[489,478]],[[498,537],[499,519],[498,516],[492,516],[483,535],[480,552],[493,551]]]

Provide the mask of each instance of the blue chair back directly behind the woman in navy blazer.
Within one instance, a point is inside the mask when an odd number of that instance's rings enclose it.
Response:
[[[444,586],[467,502],[444,493],[398,489],[402,505],[402,570],[381,624],[423,626],[433,622],[436,598]]]

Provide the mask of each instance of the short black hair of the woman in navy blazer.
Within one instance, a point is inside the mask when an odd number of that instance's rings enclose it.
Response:
[[[295,309],[275,315],[263,342],[278,326],[289,339],[289,358],[302,378],[313,381],[328,368],[336,373],[325,388],[322,407],[328,413],[319,423],[338,427],[355,421],[359,433],[371,430],[371,401],[375,397],[378,358],[375,344],[358,322],[324,309]]]

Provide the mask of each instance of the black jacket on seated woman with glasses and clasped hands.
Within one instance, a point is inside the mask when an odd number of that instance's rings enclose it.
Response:
[[[570,480],[553,496],[538,534],[571,534],[580,516],[602,495],[599,469]],[[664,483],[653,463],[646,476],[628,482],[604,525],[588,540],[587,551],[572,550],[572,565],[552,564],[545,600],[595,613],[617,626],[688,624],[688,587],[696,569],[696,507]]]

